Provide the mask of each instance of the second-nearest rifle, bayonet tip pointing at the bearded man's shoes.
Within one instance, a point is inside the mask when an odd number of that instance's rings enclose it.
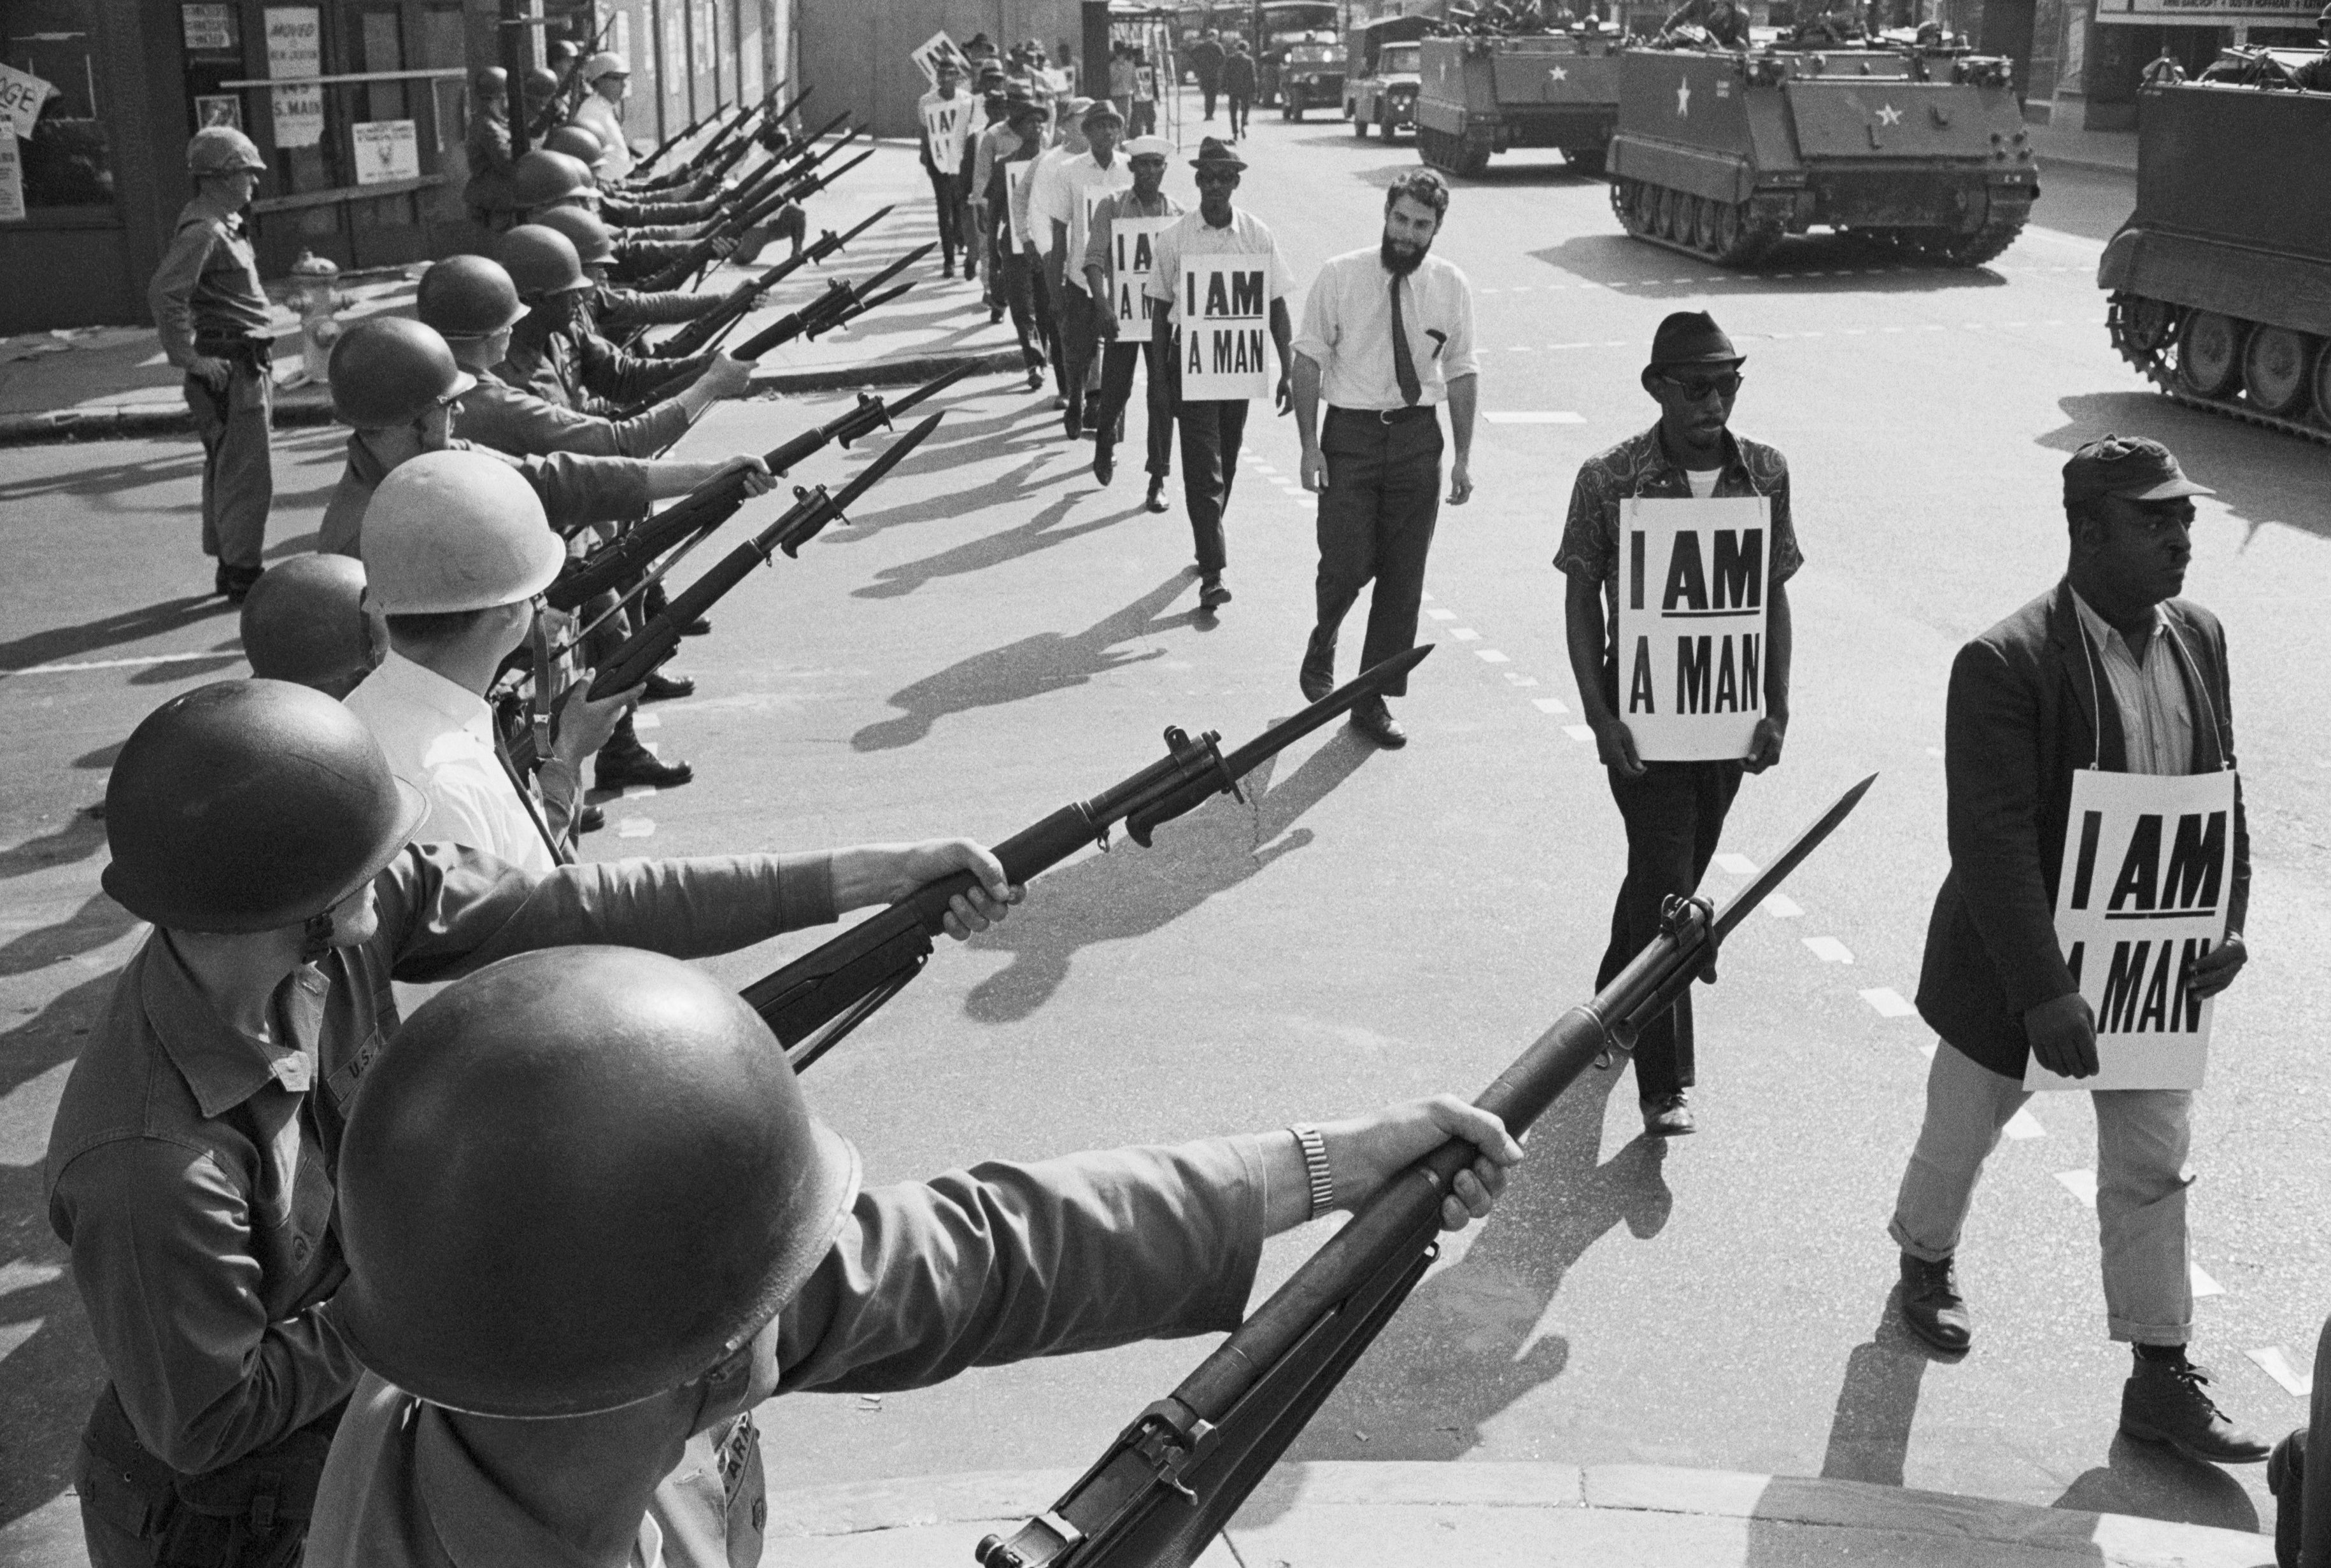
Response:
[[[1179,727],[1166,729],[1161,760],[1112,790],[1061,806],[1042,822],[998,843],[995,860],[1002,862],[1005,878],[1014,885],[1033,881],[1086,843],[1110,848],[1110,829],[1119,822],[1128,839],[1149,848],[1149,839],[1161,825],[1196,811],[1214,794],[1242,801],[1240,781],[1247,774],[1312,729],[1382,692],[1424,662],[1431,650],[1434,645],[1424,643],[1382,659],[1228,757],[1221,755],[1221,734],[1212,729],[1196,739]],[[793,1062],[795,1072],[832,1051],[841,1037],[923,972],[930,960],[930,939],[944,930],[949,899],[970,892],[972,885],[970,871],[942,876],[879,916],[860,920],[823,948],[746,986],[746,1004],[786,1046],[786,1060]]]

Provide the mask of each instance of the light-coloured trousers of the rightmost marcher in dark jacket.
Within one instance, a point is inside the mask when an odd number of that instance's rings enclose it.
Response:
[[[1935,1263],[1958,1251],[1974,1179],[2023,1109],[2021,1081],[1942,1041],[1925,1074],[1925,1125],[1902,1172],[1888,1226],[1895,1244]],[[2193,1333],[2184,1195],[2193,1184],[2193,1095],[2182,1088],[2112,1088],[2096,1102],[2096,1232],[2105,1251],[2105,1323],[2114,1340],[2184,1344]]]

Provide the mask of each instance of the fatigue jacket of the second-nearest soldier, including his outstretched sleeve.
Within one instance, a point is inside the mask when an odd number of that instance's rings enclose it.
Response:
[[[350,1095],[396,1030],[389,981],[450,981],[580,941],[727,953],[834,918],[825,855],[627,860],[529,876],[413,846],[373,883],[380,930],[301,967],[270,1037],[228,1025],[154,932],[72,1065],[49,1132],[49,1226],[138,1440],[214,1470],[324,1414],[357,1363],[331,1165]]]

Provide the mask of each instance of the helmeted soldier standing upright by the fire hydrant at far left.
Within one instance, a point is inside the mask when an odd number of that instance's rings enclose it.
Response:
[[[193,133],[193,200],[179,210],[147,289],[163,354],[186,373],[186,408],[203,443],[203,555],[219,561],[212,587],[228,603],[242,603],[259,580],[275,501],[275,333],[242,214],[263,170],[252,137],[233,126]]]

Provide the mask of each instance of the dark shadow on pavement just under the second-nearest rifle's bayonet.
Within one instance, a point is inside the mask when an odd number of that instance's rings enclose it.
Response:
[[[1375,746],[1350,727],[1338,729],[1275,785],[1275,757],[1247,774],[1242,785],[1252,806],[1217,794],[1159,827],[1147,850],[1128,846],[1051,871],[1026,909],[972,937],[974,948],[1009,953],[1012,965],[979,981],[963,1011],[979,1023],[1016,1023],[1051,1000],[1077,948],[1145,937],[1305,848],[1312,832],[1294,827],[1296,818],[1333,794],[1373,753]]]

